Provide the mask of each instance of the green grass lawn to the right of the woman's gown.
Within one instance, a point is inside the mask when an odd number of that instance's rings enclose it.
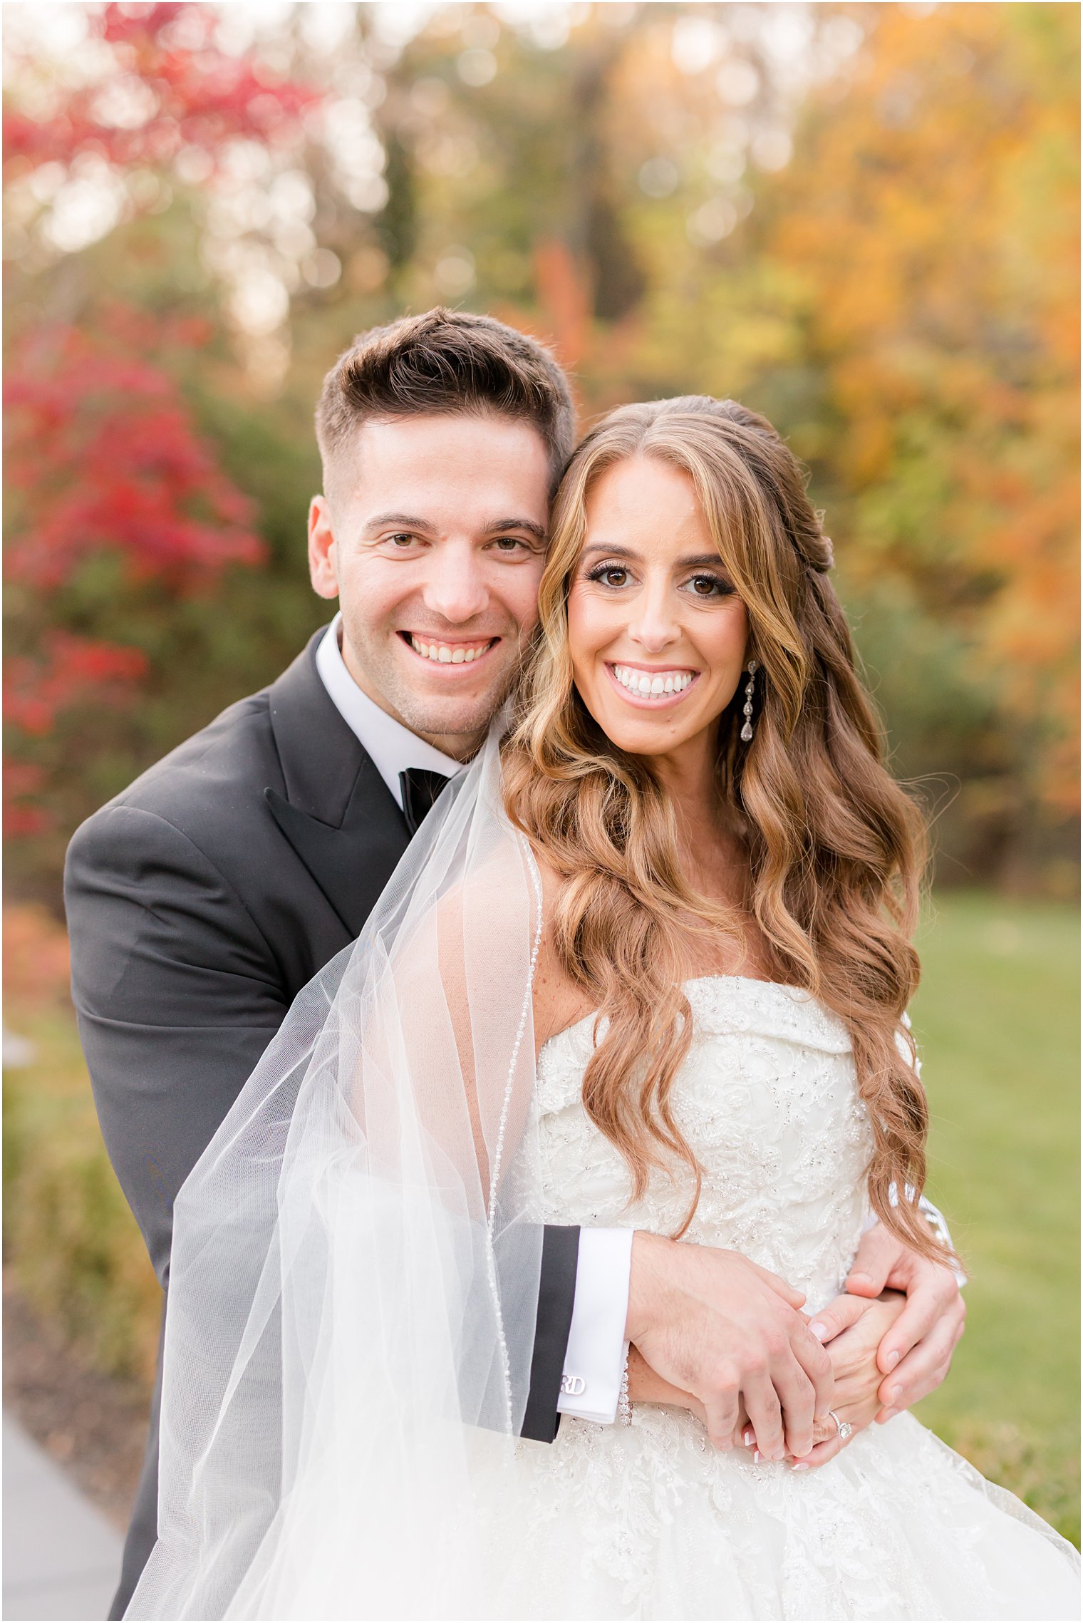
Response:
[[[966,1336],[926,1425],[1078,1543],[1078,914],[937,896],[913,1019]]]

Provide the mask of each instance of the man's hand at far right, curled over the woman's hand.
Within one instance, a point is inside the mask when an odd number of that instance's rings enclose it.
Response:
[[[906,1307],[877,1349],[884,1375],[875,1417],[880,1425],[940,1384],[966,1323],[966,1303],[952,1269],[918,1256],[884,1224],[875,1224],[861,1240],[846,1290],[854,1297],[879,1297],[884,1289],[901,1290]]]

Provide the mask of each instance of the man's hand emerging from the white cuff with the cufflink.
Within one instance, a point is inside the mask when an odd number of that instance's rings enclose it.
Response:
[[[741,1399],[767,1459],[812,1449],[832,1407],[830,1358],[798,1311],[804,1297],[739,1251],[637,1232],[626,1334],[647,1363],[704,1406],[731,1448]]]

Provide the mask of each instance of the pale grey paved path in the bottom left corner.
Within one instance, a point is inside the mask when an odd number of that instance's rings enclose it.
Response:
[[[122,1537],[10,1414],[3,1415],[3,1618],[104,1618]]]

